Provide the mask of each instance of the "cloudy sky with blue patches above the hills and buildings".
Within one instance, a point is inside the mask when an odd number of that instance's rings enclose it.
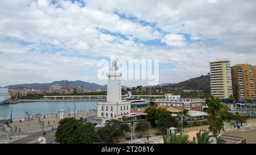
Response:
[[[0,1],[0,86],[63,79],[106,84],[97,62],[159,60],[159,82],[209,61],[256,65],[256,1]],[[123,85],[146,85],[126,80]]]

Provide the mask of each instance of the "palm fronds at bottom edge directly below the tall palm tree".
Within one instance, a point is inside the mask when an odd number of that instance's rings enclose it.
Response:
[[[210,144],[211,143],[211,141],[209,141],[210,137],[214,137],[214,136],[210,136],[208,131],[201,133],[201,130],[200,130],[199,133],[196,133],[197,144]],[[216,140],[217,140],[217,144],[225,143],[224,140],[218,137],[216,137]]]

